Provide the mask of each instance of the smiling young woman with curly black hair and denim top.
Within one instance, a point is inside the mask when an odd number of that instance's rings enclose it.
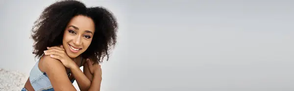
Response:
[[[103,7],[75,0],[57,1],[34,23],[35,57],[22,91],[99,91],[101,63],[116,44],[118,24]],[[79,68],[84,66],[83,71]]]

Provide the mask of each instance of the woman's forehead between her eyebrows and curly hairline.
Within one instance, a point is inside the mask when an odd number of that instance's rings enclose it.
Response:
[[[73,25],[82,31],[89,30],[95,32],[95,25],[93,20],[86,16],[79,15],[73,17],[73,19],[68,23],[68,26],[70,25]]]

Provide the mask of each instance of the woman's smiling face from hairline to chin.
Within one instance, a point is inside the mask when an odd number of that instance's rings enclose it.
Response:
[[[62,44],[69,57],[75,58],[90,46],[95,32],[95,25],[91,18],[75,16],[68,23]]]

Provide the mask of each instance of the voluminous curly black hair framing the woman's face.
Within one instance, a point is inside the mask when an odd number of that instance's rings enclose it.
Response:
[[[95,33],[88,49],[82,53],[83,58],[91,58],[101,63],[117,42],[118,23],[115,16],[108,9],[86,7],[76,0],[56,1],[49,5],[34,22],[31,38],[34,41],[33,54],[40,58],[43,51],[50,46],[62,45],[64,30],[70,20],[78,15],[91,18],[95,23]]]

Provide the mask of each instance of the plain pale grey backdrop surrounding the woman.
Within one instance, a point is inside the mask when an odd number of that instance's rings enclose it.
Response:
[[[29,73],[54,0],[0,0],[0,68]],[[83,0],[117,16],[102,91],[294,91],[292,0]]]

